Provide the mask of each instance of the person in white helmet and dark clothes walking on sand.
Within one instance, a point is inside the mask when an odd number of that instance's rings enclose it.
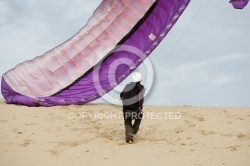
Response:
[[[127,84],[120,93],[123,104],[126,142],[133,143],[133,135],[139,131],[143,117],[143,101],[145,88],[141,84],[142,75],[139,72],[132,74],[132,82]],[[134,122],[133,122],[134,120]]]

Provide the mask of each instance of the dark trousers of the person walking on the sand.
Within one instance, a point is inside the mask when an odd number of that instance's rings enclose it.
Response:
[[[141,121],[142,121],[142,112],[137,112],[136,116],[134,117],[126,116],[126,112],[124,113],[126,140],[133,139],[133,135],[139,131]]]

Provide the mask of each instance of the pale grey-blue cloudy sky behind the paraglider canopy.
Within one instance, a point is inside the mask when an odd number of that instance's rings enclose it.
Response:
[[[153,80],[145,104],[250,106],[250,5],[228,1],[191,0],[148,59],[153,78],[137,69]],[[0,74],[69,39],[100,2],[0,0]]]

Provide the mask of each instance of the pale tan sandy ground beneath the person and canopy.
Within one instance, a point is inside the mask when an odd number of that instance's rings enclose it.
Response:
[[[0,165],[250,165],[250,108],[145,106],[144,118],[129,145],[119,106],[0,100]]]

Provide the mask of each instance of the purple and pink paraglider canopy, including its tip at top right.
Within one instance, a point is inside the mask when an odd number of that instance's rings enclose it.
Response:
[[[69,40],[3,74],[6,103],[49,107],[102,97],[154,51],[190,1],[103,0]],[[248,1],[230,3],[243,9]]]

